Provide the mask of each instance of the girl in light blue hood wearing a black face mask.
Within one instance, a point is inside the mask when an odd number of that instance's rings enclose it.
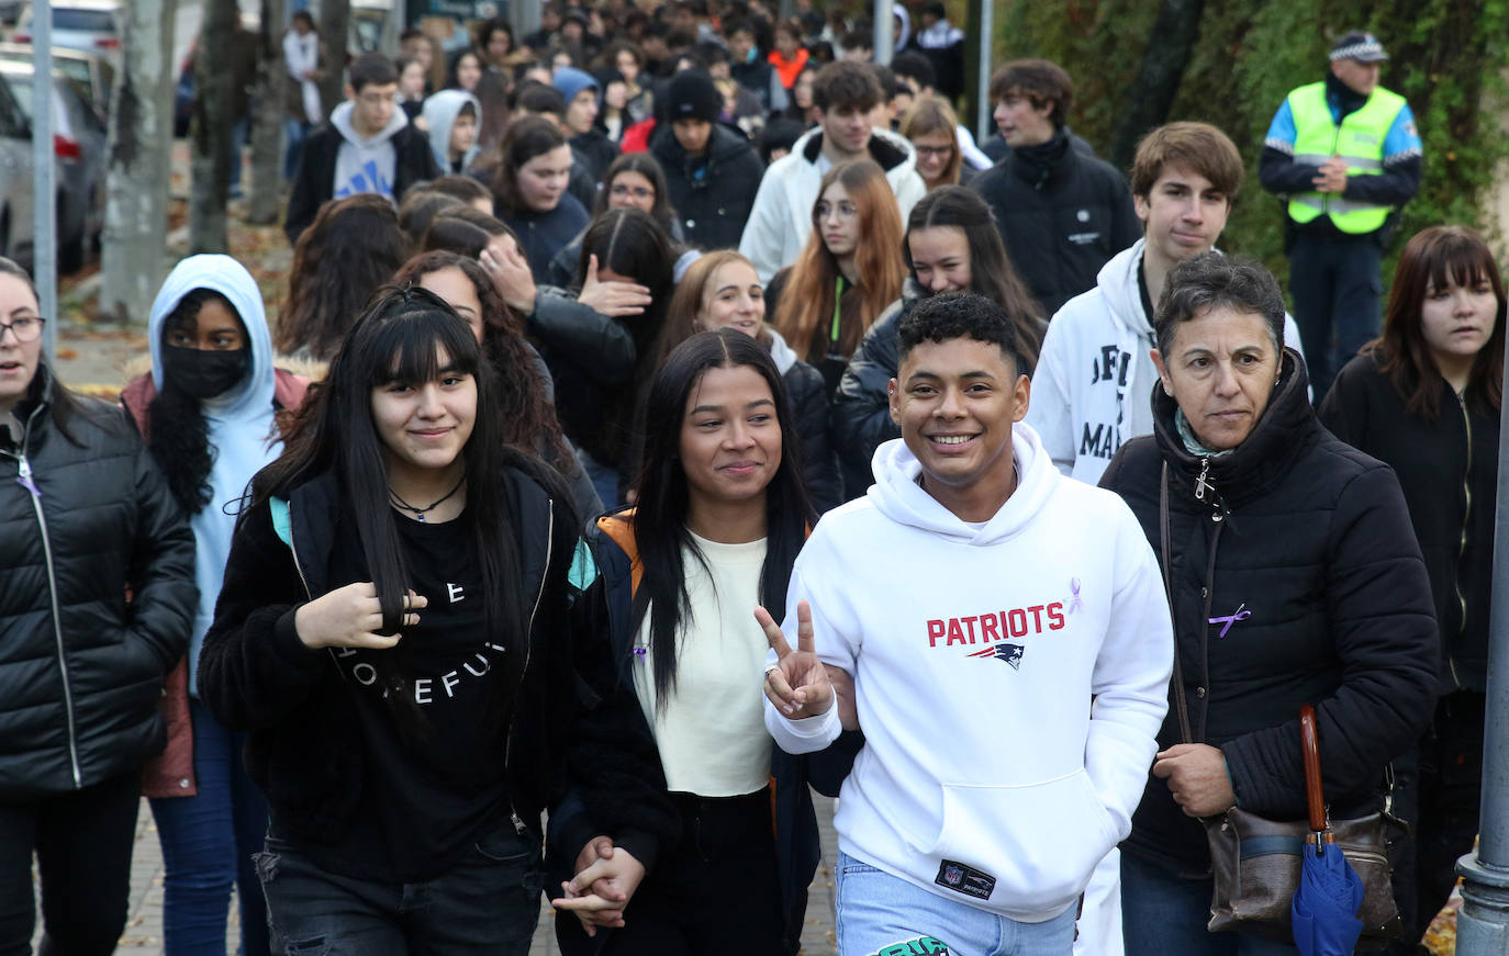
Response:
[[[296,412],[306,381],[273,368],[257,280],[223,255],[190,256],[163,282],[148,327],[152,371],[121,397],[189,516],[199,606],[189,654],[163,698],[167,749],[148,766],[143,792],[163,844],[167,953],[225,944],[231,890],[240,890],[241,950],[266,954],[267,920],[250,855],[267,810],[241,764],[244,736],[199,703],[193,680],[214,615],[235,526],[235,502],[278,457],[278,412]]]

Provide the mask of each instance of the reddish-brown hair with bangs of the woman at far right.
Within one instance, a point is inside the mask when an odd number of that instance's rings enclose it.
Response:
[[[1473,359],[1464,398],[1498,415],[1504,378],[1504,283],[1494,253],[1482,237],[1464,226],[1431,226],[1417,232],[1399,255],[1394,286],[1384,314],[1384,335],[1367,345],[1378,369],[1388,375],[1405,412],[1428,422],[1441,418],[1441,369],[1424,341],[1420,311],[1428,290],[1486,282],[1498,300],[1494,333]]]

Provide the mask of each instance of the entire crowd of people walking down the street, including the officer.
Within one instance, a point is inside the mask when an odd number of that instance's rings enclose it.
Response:
[[[644,5],[640,5],[644,6]],[[290,71],[293,267],[172,270],[85,400],[0,259],[0,953],[1283,954],[1201,819],[1388,805],[1397,953],[1477,831],[1506,294],[1381,250],[1372,35],[1263,143],[1070,75],[958,124],[943,3],[543,6]],[[317,80],[344,66],[346,98]],[[1216,249],[1262,151],[1290,291]],[[1236,250],[1239,252],[1239,250]],[[1375,290],[1360,291],[1361,286]],[[1372,297],[1369,297],[1372,296]],[[297,360],[312,374],[281,363]],[[1188,703],[1186,703],[1188,701]]]

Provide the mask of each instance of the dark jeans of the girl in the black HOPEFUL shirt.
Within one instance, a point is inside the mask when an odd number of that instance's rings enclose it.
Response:
[[[421,882],[332,873],[267,837],[257,855],[278,951],[297,956],[528,956],[540,915],[540,846],[504,820]]]

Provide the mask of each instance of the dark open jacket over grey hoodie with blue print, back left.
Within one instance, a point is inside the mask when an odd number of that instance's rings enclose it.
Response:
[[[382,193],[397,205],[410,185],[441,175],[430,140],[409,125],[403,110],[394,109],[377,136],[361,139],[352,128],[353,109],[350,100],[340,104],[330,112],[330,122],[303,140],[284,223],[290,244],[299,241],[327,199]]]

